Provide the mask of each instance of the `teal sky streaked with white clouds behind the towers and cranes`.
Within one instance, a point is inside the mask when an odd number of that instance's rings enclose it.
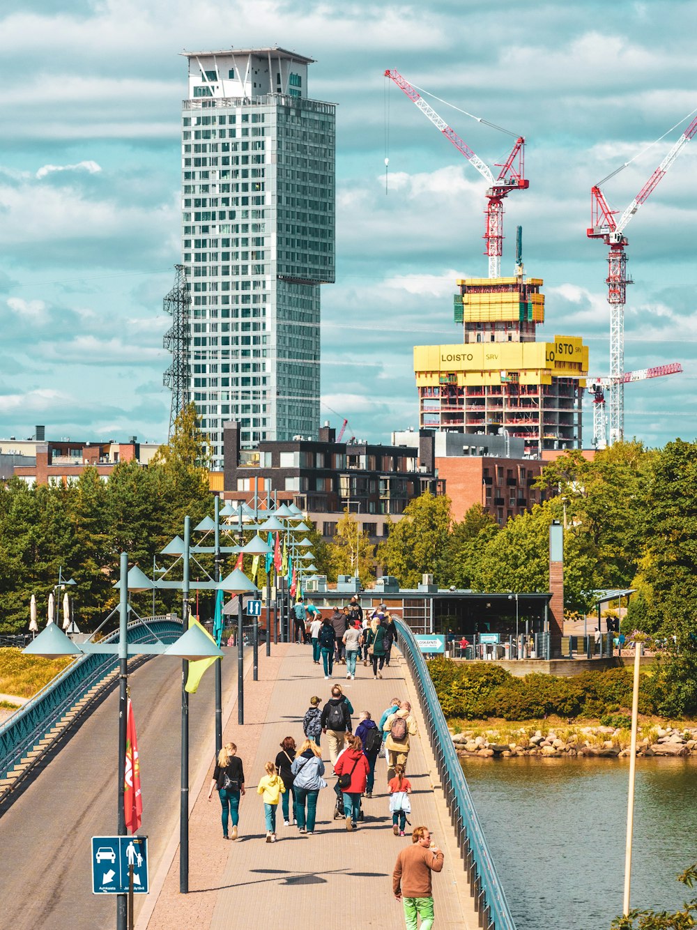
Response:
[[[300,9],[302,15],[299,15]],[[580,336],[609,372],[607,247],[590,188],[620,210],[697,107],[697,7],[618,0],[418,6],[356,0],[24,0],[0,11],[0,436],[166,440],[163,298],[180,260],[186,49],[282,46],[316,61],[336,109],[336,281],[322,287],[322,421],[389,441],[418,426],[414,344],[458,342],[455,280],[487,274],[484,179],[401,90],[396,69],[483,161],[525,136],[530,189],[506,200],[545,281],[539,338]],[[448,105],[451,104],[451,105]],[[457,109],[454,109],[457,108]],[[388,158],[386,178],[385,159]],[[625,437],[697,436],[697,140],[625,230]],[[494,172],[495,173],[495,172]],[[592,436],[585,405],[585,445]]]

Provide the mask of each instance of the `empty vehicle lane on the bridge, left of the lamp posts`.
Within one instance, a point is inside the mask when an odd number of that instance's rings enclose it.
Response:
[[[237,683],[236,649],[222,661],[223,706]],[[155,658],[129,677],[138,729],[143,822],[151,876],[179,815],[181,665]],[[190,777],[214,744],[214,672],[190,696]],[[0,817],[0,926],[101,930],[115,923],[112,896],[92,894],[90,838],[116,830],[118,692],[85,721]]]

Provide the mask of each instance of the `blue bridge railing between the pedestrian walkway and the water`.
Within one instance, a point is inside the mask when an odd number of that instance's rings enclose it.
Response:
[[[426,720],[428,740],[436,759],[445,801],[450,811],[457,845],[463,857],[467,880],[484,930],[515,930],[501,880],[493,865],[480,818],[469,793],[467,780],[455,752],[441,705],[436,695],[427,663],[414,633],[396,620],[401,654],[407,661],[418,691],[421,711]]]

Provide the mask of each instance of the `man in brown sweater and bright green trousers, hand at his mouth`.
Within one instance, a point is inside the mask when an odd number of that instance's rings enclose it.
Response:
[[[404,906],[407,930],[416,930],[416,919],[421,918],[421,930],[433,926],[433,889],[431,872],[441,871],[443,854],[427,827],[414,827],[412,845],[401,850],[392,873],[392,891]]]

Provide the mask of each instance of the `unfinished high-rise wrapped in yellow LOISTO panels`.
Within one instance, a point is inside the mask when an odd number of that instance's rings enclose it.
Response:
[[[525,454],[582,447],[588,348],[576,336],[536,342],[541,278],[466,278],[454,297],[463,342],[415,346],[420,425],[525,441]]]

